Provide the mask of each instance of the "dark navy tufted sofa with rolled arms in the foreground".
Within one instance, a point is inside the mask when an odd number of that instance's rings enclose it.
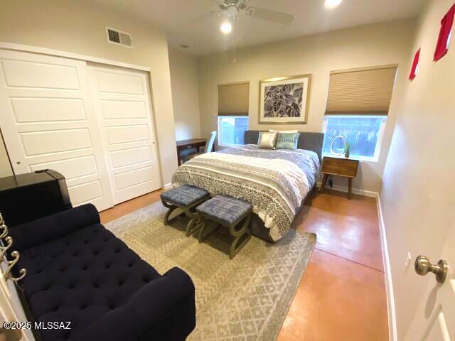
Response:
[[[37,322],[70,321],[70,330],[39,330],[43,341],[185,340],[196,325],[191,278],[163,276],[100,224],[93,205],[11,229],[21,252],[23,298]]]

